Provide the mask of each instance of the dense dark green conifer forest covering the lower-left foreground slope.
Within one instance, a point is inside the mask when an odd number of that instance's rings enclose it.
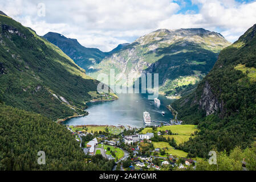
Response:
[[[40,114],[0,104],[0,126],[0,170],[111,170],[115,163],[85,156],[72,133]]]

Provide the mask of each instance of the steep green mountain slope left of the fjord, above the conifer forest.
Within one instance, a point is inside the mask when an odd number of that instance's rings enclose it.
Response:
[[[0,15],[0,101],[57,119],[83,114],[98,81],[30,28]]]

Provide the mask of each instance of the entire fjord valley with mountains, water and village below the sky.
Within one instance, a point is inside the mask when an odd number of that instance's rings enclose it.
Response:
[[[233,44],[204,28],[133,40],[103,52],[0,11],[0,170],[255,170],[256,24]],[[159,92],[99,92],[111,71],[124,88],[158,74]]]

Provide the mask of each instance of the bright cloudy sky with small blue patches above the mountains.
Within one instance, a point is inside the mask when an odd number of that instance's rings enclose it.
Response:
[[[0,0],[0,10],[38,35],[59,32],[102,51],[160,28],[205,28],[234,42],[256,23],[256,0]]]

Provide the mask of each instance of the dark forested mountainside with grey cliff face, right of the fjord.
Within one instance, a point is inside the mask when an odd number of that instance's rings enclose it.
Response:
[[[198,136],[180,146],[207,156],[214,148],[245,148],[256,137],[256,24],[226,47],[196,90],[172,105],[184,123],[198,124]]]

